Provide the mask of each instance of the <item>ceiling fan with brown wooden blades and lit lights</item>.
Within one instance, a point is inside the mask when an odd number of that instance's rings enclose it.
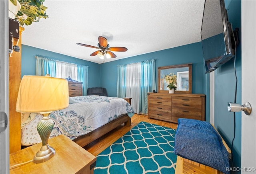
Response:
[[[96,48],[96,49],[100,49],[98,51],[93,52],[92,54],[90,54],[90,56],[98,56],[100,57],[100,59],[104,59],[104,55],[106,55],[107,58],[116,58],[116,55],[114,53],[112,53],[111,51],[127,51],[128,49],[125,47],[109,47],[108,45],[108,40],[103,37],[103,36],[99,36],[99,43],[98,43],[98,47],[95,46],[91,46],[91,45],[86,45],[83,43],[76,43],[77,45],[81,45],[84,47],[90,47],[90,48]]]

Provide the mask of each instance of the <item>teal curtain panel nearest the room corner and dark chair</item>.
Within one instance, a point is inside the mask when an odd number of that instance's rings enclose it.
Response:
[[[116,96],[119,97],[119,98],[124,98],[125,97],[126,66],[127,65],[117,65]]]

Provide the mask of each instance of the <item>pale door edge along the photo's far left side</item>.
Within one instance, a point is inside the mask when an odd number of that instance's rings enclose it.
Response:
[[[8,0],[0,0],[0,173],[9,173],[9,126],[5,127],[4,117],[9,115],[9,20]]]

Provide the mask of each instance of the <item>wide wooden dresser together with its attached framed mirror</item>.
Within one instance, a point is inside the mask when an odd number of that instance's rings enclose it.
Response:
[[[164,76],[176,75],[176,90],[169,94]],[[205,120],[205,95],[192,94],[192,64],[158,67],[158,92],[148,93],[148,118],[177,123],[179,118]]]

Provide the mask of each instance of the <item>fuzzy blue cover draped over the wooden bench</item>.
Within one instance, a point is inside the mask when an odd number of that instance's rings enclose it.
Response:
[[[195,119],[178,119],[174,153],[229,174],[228,151],[212,125]]]

